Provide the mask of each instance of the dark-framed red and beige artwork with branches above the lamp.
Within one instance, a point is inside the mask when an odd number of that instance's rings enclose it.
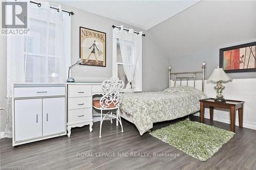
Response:
[[[220,67],[225,72],[256,71],[256,42],[221,48]]]

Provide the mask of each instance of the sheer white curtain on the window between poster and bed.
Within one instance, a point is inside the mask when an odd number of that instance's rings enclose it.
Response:
[[[123,30],[120,26],[118,30],[118,39],[120,44],[120,51],[123,61],[123,68],[129,83],[126,89],[134,89],[134,74],[137,67],[137,61],[141,52],[142,32],[134,33],[133,29],[129,31]]]

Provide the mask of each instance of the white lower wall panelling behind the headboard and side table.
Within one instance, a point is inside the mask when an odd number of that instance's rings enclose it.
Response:
[[[171,81],[174,86],[174,81]],[[180,81],[176,82],[180,85]],[[182,81],[182,85],[186,85],[186,81]],[[188,81],[189,86],[194,85],[194,81]],[[204,83],[204,92],[208,98],[216,98],[216,91],[214,83]],[[256,79],[233,79],[232,82],[223,83],[225,89],[223,95],[225,99],[245,101],[244,103],[244,116],[243,126],[256,130]],[[202,80],[196,80],[196,88],[201,90]],[[200,115],[197,113],[196,115]],[[209,108],[205,108],[205,118],[210,118]],[[214,120],[230,124],[230,112],[227,109],[214,109]],[[238,111],[236,116],[236,125],[238,126]]]

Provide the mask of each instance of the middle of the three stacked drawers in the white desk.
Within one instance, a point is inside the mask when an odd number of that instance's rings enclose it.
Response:
[[[87,108],[91,106],[91,97],[69,98],[69,109]]]

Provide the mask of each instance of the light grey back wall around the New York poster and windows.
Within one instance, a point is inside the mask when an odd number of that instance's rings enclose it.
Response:
[[[52,6],[58,2],[50,1]],[[95,15],[74,7],[61,5],[62,9],[73,11],[71,16],[71,62],[79,58],[79,27],[85,27],[106,33],[106,67],[79,65],[72,68],[71,75],[76,81],[103,81],[112,77],[112,25],[123,25],[125,28],[133,28],[135,31],[143,31],[146,34],[142,38],[142,90],[158,91],[168,86],[168,59],[157,46],[154,38],[145,30],[112,20],[106,17]],[[0,36],[1,58],[0,58],[0,107],[6,107],[6,37]],[[0,115],[1,131],[4,131],[4,114]]]

